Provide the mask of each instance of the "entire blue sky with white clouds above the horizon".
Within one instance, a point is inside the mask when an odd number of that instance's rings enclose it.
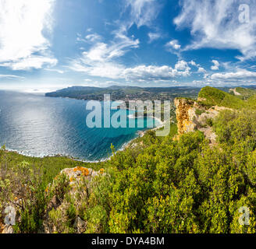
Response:
[[[0,89],[256,84],[256,0],[0,0]]]

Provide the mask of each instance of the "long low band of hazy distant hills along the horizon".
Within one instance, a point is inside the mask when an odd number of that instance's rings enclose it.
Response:
[[[204,88],[205,89],[205,88]],[[216,91],[222,90],[225,93],[232,93],[236,96],[233,103],[240,102],[237,99],[248,100],[254,96],[255,86],[236,87],[235,91],[230,87],[222,87],[215,89],[212,93],[211,88],[208,91],[203,91],[201,95],[212,95],[220,98],[229,98],[230,94],[217,93]],[[104,94],[111,94],[111,100],[173,100],[176,97],[189,97],[197,98],[201,88],[180,86],[180,87],[137,87],[137,86],[109,86],[105,88],[93,86],[72,86],[66,89],[60,89],[53,93],[46,93],[48,97],[66,97],[77,100],[104,100]],[[204,96],[201,96],[204,98]],[[219,100],[218,100],[219,101]],[[218,102],[217,101],[217,102]],[[228,102],[230,102],[228,101]],[[225,101],[224,101],[225,103]],[[241,102],[240,102],[241,103]],[[240,105],[239,103],[237,103]]]

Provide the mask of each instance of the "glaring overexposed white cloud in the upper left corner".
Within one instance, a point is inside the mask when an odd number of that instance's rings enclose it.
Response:
[[[44,64],[55,64],[56,60],[48,56],[50,43],[44,37],[45,33],[52,31],[54,3],[55,0],[0,1],[2,65],[24,70],[26,65],[41,68]]]

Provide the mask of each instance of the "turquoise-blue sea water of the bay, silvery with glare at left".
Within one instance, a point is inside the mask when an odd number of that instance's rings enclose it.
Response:
[[[147,121],[158,125],[152,118],[141,118],[136,128],[88,128],[86,118],[91,110],[86,110],[86,104],[84,100],[0,91],[0,145],[27,156],[98,161],[111,156],[111,144],[122,149],[135,139]],[[111,115],[116,111],[111,110]],[[137,122],[144,128],[137,128]]]

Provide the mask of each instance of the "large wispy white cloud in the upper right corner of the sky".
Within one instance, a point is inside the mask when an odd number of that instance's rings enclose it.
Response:
[[[194,36],[186,50],[213,47],[239,50],[244,54],[241,60],[256,56],[256,0],[249,3],[249,23],[240,23],[239,1],[181,0],[180,5],[182,11],[174,23],[180,29],[189,27]]]

